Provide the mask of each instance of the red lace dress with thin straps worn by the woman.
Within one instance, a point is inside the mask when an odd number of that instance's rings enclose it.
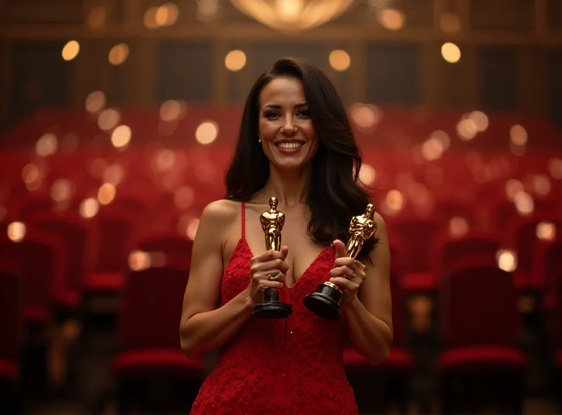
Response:
[[[282,301],[293,306],[285,320],[251,317],[220,350],[191,414],[357,414],[344,371],[346,327],[308,311],[303,298],[329,279],[334,247],[325,247]],[[225,268],[221,306],[245,290],[252,252],[242,238]]]

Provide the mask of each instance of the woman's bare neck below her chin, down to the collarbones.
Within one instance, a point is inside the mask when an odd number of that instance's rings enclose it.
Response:
[[[310,184],[311,170],[280,171],[270,166],[269,178],[263,189],[256,193],[256,202],[269,203],[275,196],[281,205],[292,207],[306,202],[306,193]]]

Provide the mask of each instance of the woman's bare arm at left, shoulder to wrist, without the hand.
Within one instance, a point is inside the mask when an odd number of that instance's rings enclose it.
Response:
[[[226,200],[202,212],[193,243],[180,323],[181,348],[188,357],[223,346],[251,316],[255,303],[247,290],[216,308],[223,277],[222,232],[237,215]]]

